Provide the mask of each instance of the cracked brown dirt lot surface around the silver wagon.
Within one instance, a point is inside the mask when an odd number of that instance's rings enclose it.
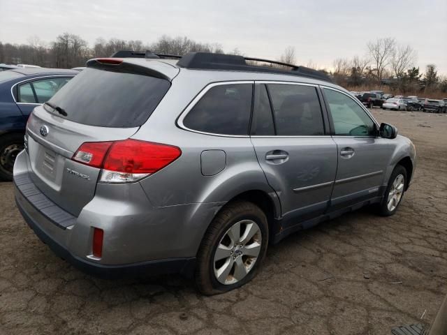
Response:
[[[0,335],[390,334],[430,324],[447,293],[447,114],[374,115],[416,144],[400,211],[362,209],[294,234],[270,247],[253,282],[216,297],[178,276],[82,274],[38,240],[1,183]]]

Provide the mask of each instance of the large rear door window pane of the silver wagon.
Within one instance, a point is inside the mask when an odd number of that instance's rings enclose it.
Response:
[[[268,84],[277,135],[323,135],[323,117],[316,88]]]

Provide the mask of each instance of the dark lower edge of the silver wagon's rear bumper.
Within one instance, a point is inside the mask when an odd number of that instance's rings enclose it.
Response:
[[[15,183],[14,183],[15,184]],[[139,275],[157,275],[181,273],[189,275],[193,271],[195,258],[170,258],[167,260],[150,260],[147,262],[138,262],[126,265],[103,265],[98,262],[89,262],[83,258],[73,255],[68,249],[52,238],[45,231],[44,226],[54,225],[54,229],[62,230],[50,218],[42,214],[36,207],[15,186],[15,202],[17,208],[22,214],[29,227],[34,230],[36,235],[60,258],[71,263],[74,267],[85,271],[87,274],[93,274],[105,278],[117,276],[139,276]]]

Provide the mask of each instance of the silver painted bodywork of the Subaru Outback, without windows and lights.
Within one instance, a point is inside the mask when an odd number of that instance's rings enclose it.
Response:
[[[140,128],[104,129],[75,124],[37,107],[28,126],[33,134],[29,154],[22,151],[15,163],[15,175],[30,173],[48,198],[78,216],[75,225],[60,230],[30,207],[26,198],[17,195],[17,202],[37,219],[41,228],[78,258],[104,265],[124,265],[193,257],[214,215],[241,193],[256,190],[268,195],[276,218],[293,212],[318,215],[327,209],[331,194],[335,200],[357,191],[369,192],[386,185],[400,159],[410,157],[415,164],[414,147],[402,136],[387,140],[329,135],[286,138],[207,135],[185,130],[178,122],[182,113],[195,103],[194,98],[215,82],[300,82],[349,94],[337,85],[269,73],[179,70],[167,61],[125,61],[156,68],[172,79],[171,88],[145,124]],[[38,135],[43,124],[49,127],[45,140]],[[142,181],[125,185],[97,184],[98,169],[69,159],[83,142],[127,137],[176,145],[182,149],[182,156]],[[340,163],[343,158],[339,157],[339,151],[345,146],[356,149],[355,159]],[[291,157],[278,165],[265,162],[265,154],[274,149],[288,151]],[[205,151],[214,150],[225,153],[223,168],[222,164],[216,168],[201,159]],[[45,151],[57,154],[52,177],[38,166],[38,157],[45,158]],[[336,172],[337,161],[342,168]],[[71,174],[66,168],[87,174],[90,179]],[[203,174],[203,170],[213,169],[219,172]],[[379,171],[372,177],[349,180]],[[348,181],[337,183],[340,179]],[[91,257],[92,227],[105,231],[101,259]]]

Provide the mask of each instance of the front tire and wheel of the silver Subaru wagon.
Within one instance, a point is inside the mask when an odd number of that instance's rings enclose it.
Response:
[[[402,176],[402,191],[401,192],[395,192],[395,181],[397,180],[397,177]],[[392,216],[395,214],[397,209],[399,208],[400,203],[402,202],[402,199],[404,198],[404,193],[406,189],[406,183],[407,181],[406,177],[406,170],[402,165],[396,165],[396,167],[393,170],[393,173],[391,173],[390,180],[388,180],[388,186],[386,186],[385,194],[383,195],[383,199],[381,203],[379,204],[379,214],[381,216]],[[399,186],[398,186],[399,188]],[[396,198],[393,196],[393,198],[390,198],[391,192],[394,192],[393,194],[396,195]],[[390,200],[394,201],[390,203]]]

